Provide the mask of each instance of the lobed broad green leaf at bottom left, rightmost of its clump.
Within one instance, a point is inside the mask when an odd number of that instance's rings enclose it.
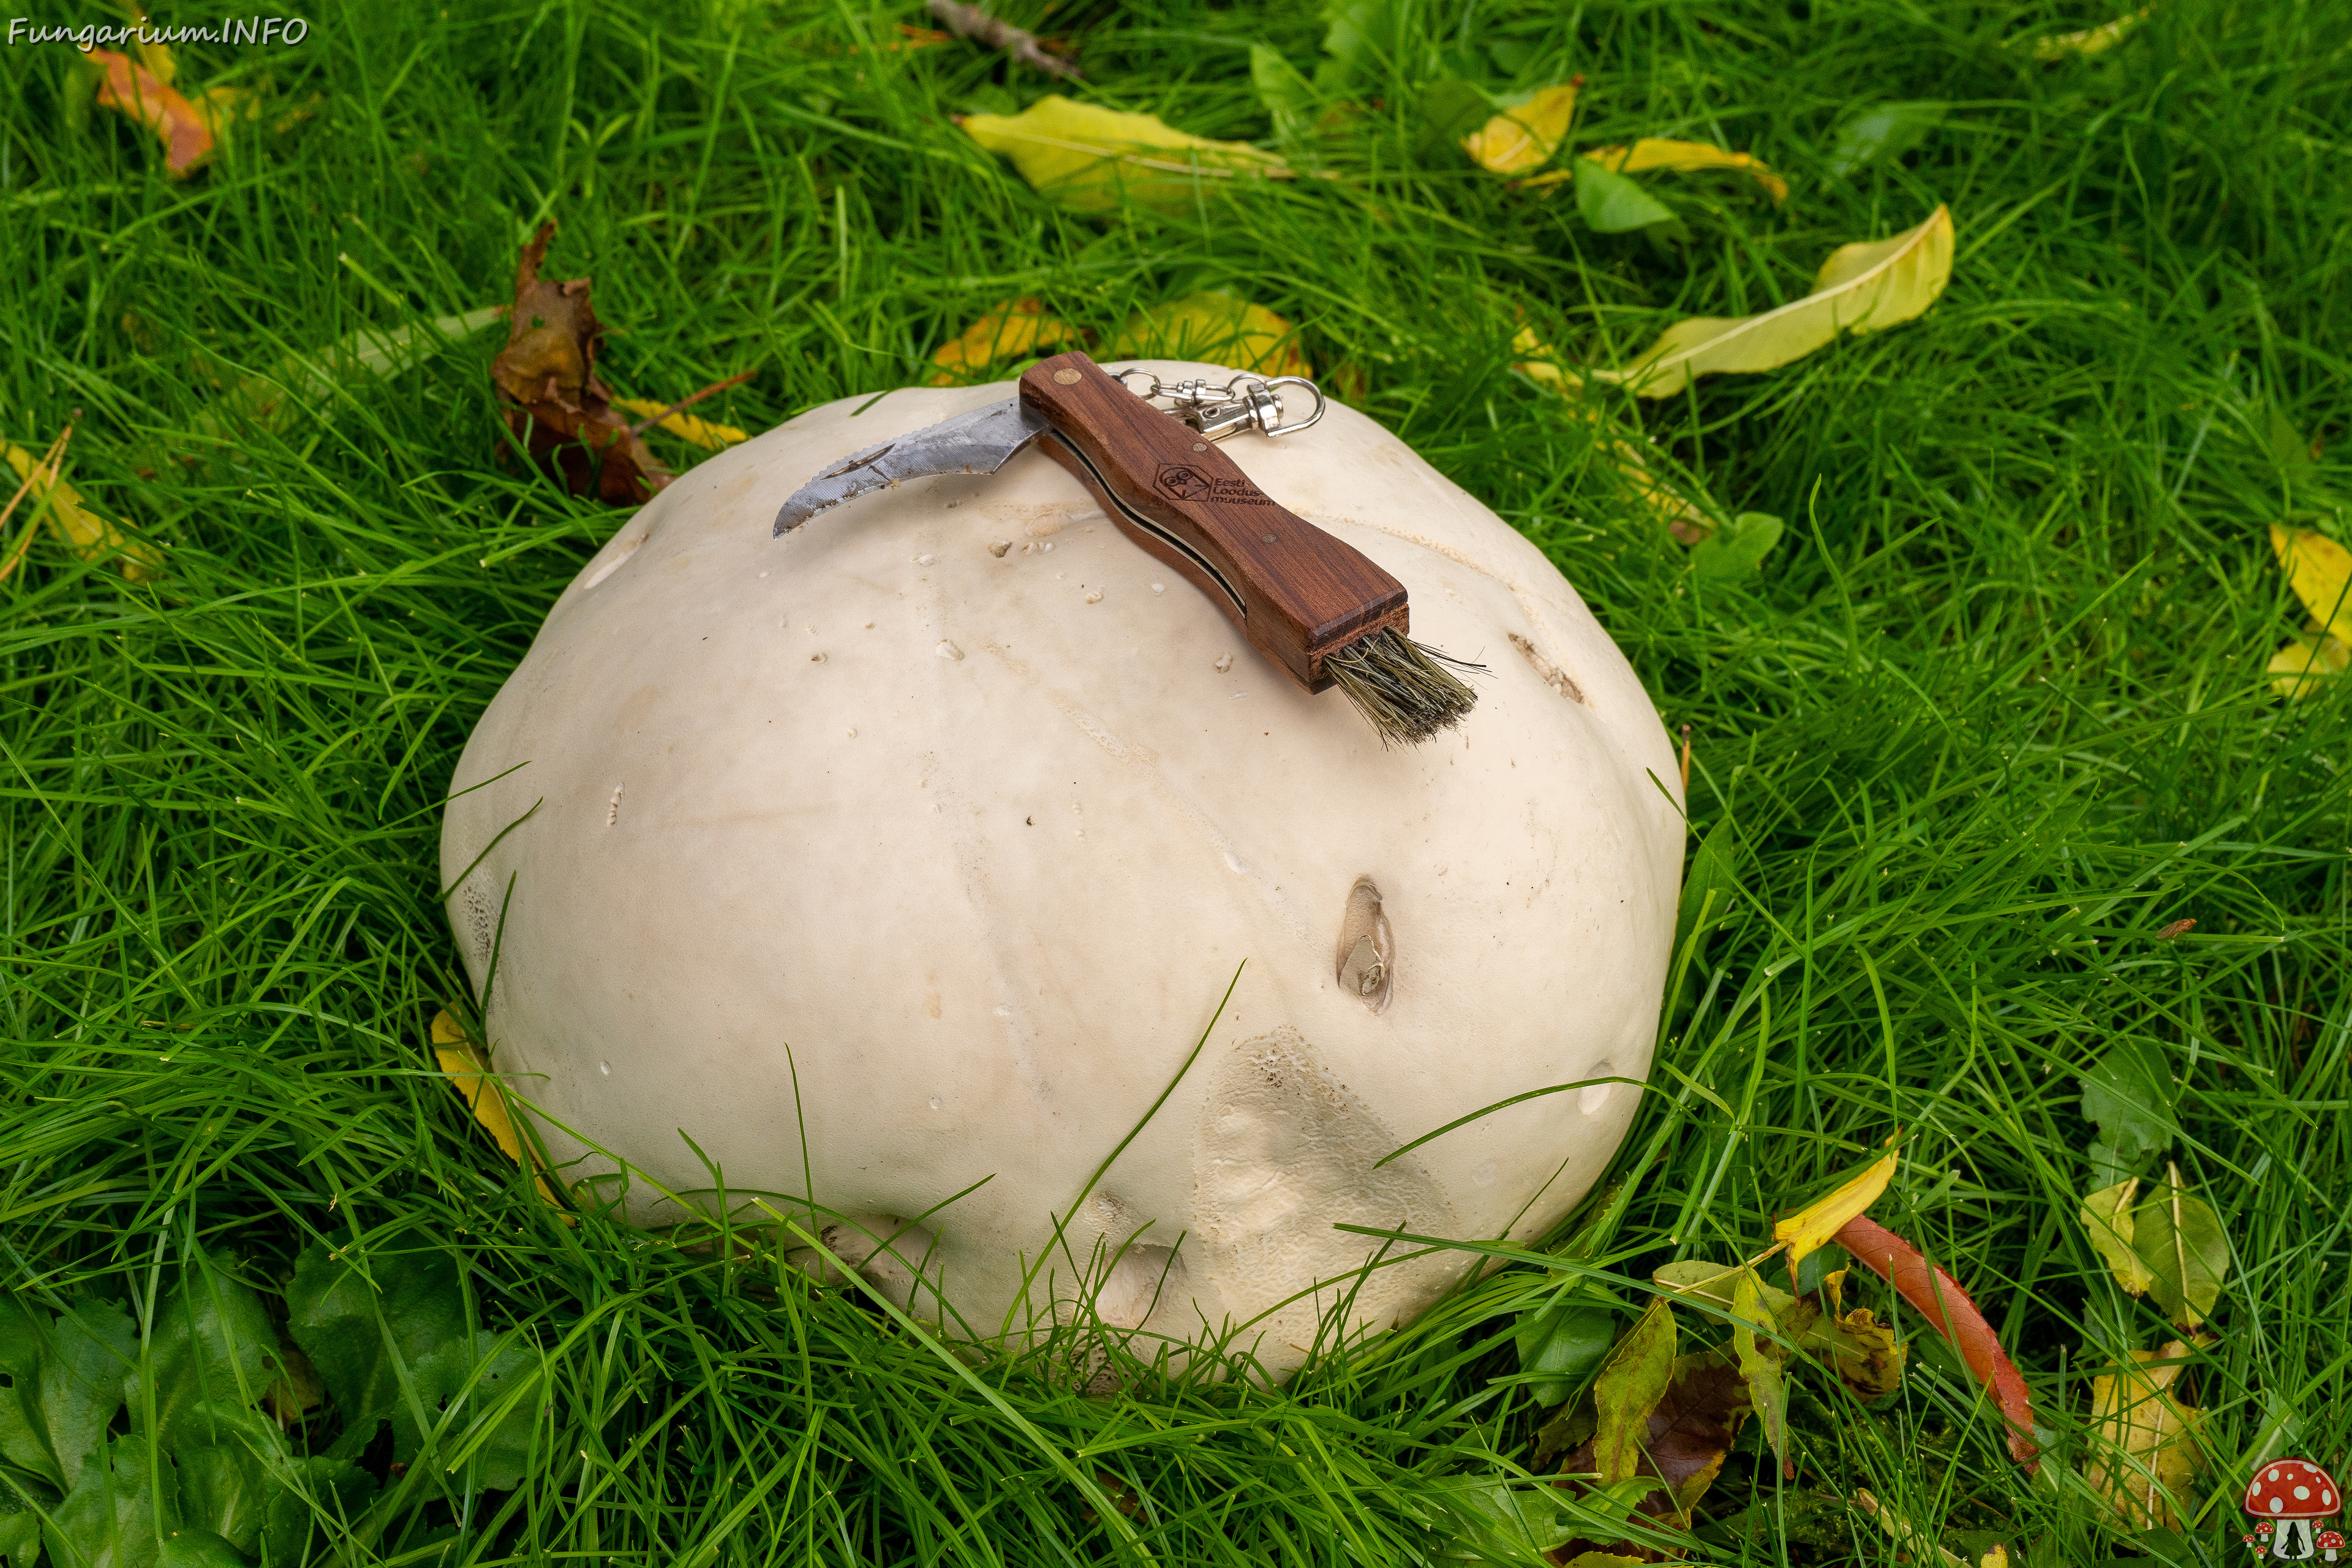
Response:
[[[313,1246],[296,1260],[287,1291],[287,1328],[348,1422],[336,1458],[365,1448],[383,1418],[393,1422],[400,1462],[414,1460],[435,1429],[445,1443],[470,1443],[482,1436],[475,1427],[492,1408],[522,1389],[515,1408],[473,1450],[485,1486],[513,1488],[529,1465],[543,1401],[536,1359],[520,1345],[494,1352],[494,1335],[468,1333],[456,1265],[447,1255],[381,1255],[372,1274],[374,1286]]]

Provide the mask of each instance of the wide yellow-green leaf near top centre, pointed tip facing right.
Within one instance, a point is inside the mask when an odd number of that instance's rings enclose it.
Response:
[[[1018,115],[964,115],[964,134],[1004,153],[1021,179],[1073,212],[1185,209],[1202,186],[1289,179],[1291,167],[1242,141],[1188,136],[1157,115],[1073,103],[1058,92]]]

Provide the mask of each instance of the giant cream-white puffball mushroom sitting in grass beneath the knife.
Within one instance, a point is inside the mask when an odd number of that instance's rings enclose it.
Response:
[[[466,745],[449,917],[494,1065],[630,1220],[724,1190],[953,1333],[1230,1326],[1282,1375],[1472,1260],[1336,1227],[1524,1241],[1606,1166],[1625,1084],[1381,1161],[1646,1074],[1675,757],[1543,552],[1336,404],[1225,451],[1489,665],[1428,745],[1301,691],[1042,451],[769,536],[1011,390],[828,404],[630,517]]]

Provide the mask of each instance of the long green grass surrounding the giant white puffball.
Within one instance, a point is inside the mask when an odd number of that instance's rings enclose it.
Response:
[[[1305,7],[1002,9],[1077,38],[1087,94],[1258,141],[1249,45],[1312,71],[1324,31]],[[1924,1340],[1872,1410],[1804,1380],[1802,1474],[1778,1483],[1750,1427],[1705,1505],[1717,1561],[1891,1561],[1818,1502],[1858,1486],[2030,1563],[2143,1549],[2082,1481],[2089,1378],[2169,1338],[2074,1220],[2077,1072],[2114,1041],[2169,1063],[2173,1157],[2234,1248],[2185,1373],[2199,1512],[2154,1547],[2241,1552],[2265,1453],[2343,1474],[2352,759],[2340,696],[2288,708],[2263,682],[2300,623],[2267,524],[2352,524],[2326,489],[2352,442],[2343,7],[2159,0],[2122,47],[2034,63],[2018,40],[2107,0],[1449,0],[1411,9],[1359,115],[1296,148],[1336,179],[1108,221],[950,122],[1021,108],[1035,73],[969,45],[851,52],[910,19],[336,7],[299,49],[183,52],[195,82],[318,94],[183,183],[120,118],[68,127],[68,52],[0,52],[0,435],[38,451],[82,409],[75,482],[169,557],[129,585],[42,538],[0,585],[12,1288],[134,1300],[195,1239],[263,1288],[313,1241],[461,1255],[480,1321],[543,1359],[546,1462],[489,1495],[421,1465],[350,1561],[1402,1563],[1475,1537],[1472,1497],[1531,1458],[1510,1349],[1548,1288],[1531,1267],[1282,1392],[1138,1371],[1087,1399],[1047,1375],[1068,1347],[967,1366],[757,1237],[564,1229],[473,1128],[423,1051],[463,997],[437,802],[623,517],[496,461],[496,334],[278,430],[202,430],[216,381],[503,301],[555,216],[550,270],[595,277],[616,393],[757,364],[699,409],[748,428],[920,381],[1014,294],[1096,329],[1244,294],[1559,562],[1693,726],[1693,825],[1745,846],[1618,1201],[1564,1244],[1637,1300],[1663,1260],[1757,1251],[1903,1126],[1875,1213],[1969,1286],[2046,1427],[2025,1483]],[[1578,143],[1750,148],[1790,202],[1658,176],[1684,240],[1592,235],[1564,193],[1505,193],[1428,134],[1444,75],[1569,73]],[[1952,110],[1828,179],[1842,115],[1884,99]],[[1959,254],[1926,320],[1602,404],[1710,505],[1788,520],[1743,585],[1696,581],[1592,425],[1510,369],[1522,322],[1618,362],[1677,315],[1795,296],[1936,202]],[[2279,421],[2321,440],[2317,465],[2281,463]],[[2154,940],[2178,917],[2194,933]],[[296,1443],[334,1436],[318,1418]],[[1105,1523],[1080,1472],[1141,1497],[1134,1519]]]

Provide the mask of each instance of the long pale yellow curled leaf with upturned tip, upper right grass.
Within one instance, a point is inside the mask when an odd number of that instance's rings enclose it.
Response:
[[[1924,315],[1950,280],[1952,214],[1938,207],[1893,240],[1832,252],[1804,299],[1762,315],[1675,322],[1630,369],[1602,369],[1592,376],[1642,397],[1670,397],[1691,376],[1778,369],[1842,331],[1882,331]]]

